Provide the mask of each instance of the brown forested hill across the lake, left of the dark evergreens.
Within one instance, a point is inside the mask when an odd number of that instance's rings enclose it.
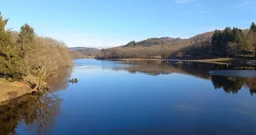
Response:
[[[198,34],[188,39],[181,39],[180,37],[154,37],[144,41],[130,41],[128,44],[119,47],[102,50],[101,53],[97,55],[97,59],[163,59],[184,48],[192,47],[195,44],[202,44],[203,42],[209,44],[213,33],[214,32]]]

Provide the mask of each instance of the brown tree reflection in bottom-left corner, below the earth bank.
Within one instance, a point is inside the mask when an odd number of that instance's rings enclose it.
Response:
[[[0,131],[2,135],[16,134],[22,121],[29,130],[48,133],[59,113],[61,100],[54,94],[27,95],[0,106]]]

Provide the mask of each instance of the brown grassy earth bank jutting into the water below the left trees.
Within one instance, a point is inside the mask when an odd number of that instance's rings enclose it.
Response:
[[[10,101],[25,94],[30,94],[31,88],[22,82],[9,82],[0,78],[0,102]]]

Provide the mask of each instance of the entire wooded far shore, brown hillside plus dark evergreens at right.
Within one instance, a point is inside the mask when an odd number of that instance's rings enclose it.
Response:
[[[131,41],[116,48],[102,49],[96,59],[254,59],[255,39],[256,25],[251,23],[247,30],[226,27],[225,30],[215,30],[189,39],[162,37]]]

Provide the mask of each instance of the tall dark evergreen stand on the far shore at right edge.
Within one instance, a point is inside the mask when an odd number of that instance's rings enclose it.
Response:
[[[215,30],[210,51],[219,57],[255,56],[255,37],[255,23],[251,23],[249,32],[243,32],[237,27]]]

